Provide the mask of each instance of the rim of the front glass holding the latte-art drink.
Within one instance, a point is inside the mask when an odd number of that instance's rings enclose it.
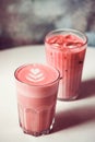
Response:
[[[17,72],[19,72],[20,70],[22,70],[23,68],[25,68],[26,66],[31,66],[31,64],[34,64],[34,63],[25,63],[25,64],[22,64],[22,66],[20,66],[20,67],[17,67],[17,68],[15,69],[15,71],[14,71],[14,78],[15,78],[15,80],[16,80],[17,82],[23,83],[23,84],[28,85],[28,86],[43,87],[43,86],[50,86],[50,84],[55,84],[56,82],[58,82],[58,81],[60,80],[60,72],[59,72],[59,70],[58,70],[57,68],[52,67],[52,66],[45,64],[45,63],[36,63],[36,64],[43,64],[43,66],[46,66],[46,67],[48,67],[48,68],[55,70],[55,71],[58,73],[56,80],[54,80],[54,81],[51,81],[51,82],[49,82],[49,83],[46,83],[46,84],[40,84],[40,85],[39,85],[39,84],[31,84],[31,83],[27,83],[27,82],[25,82],[25,81],[20,80],[20,79],[17,78]]]

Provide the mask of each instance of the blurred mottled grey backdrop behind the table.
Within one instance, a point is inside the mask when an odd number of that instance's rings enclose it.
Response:
[[[0,0],[0,49],[44,44],[64,27],[84,32],[95,47],[95,0]]]

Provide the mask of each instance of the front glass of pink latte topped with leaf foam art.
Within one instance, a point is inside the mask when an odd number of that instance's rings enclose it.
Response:
[[[33,135],[49,133],[57,100],[59,71],[45,64],[26,64],[15,71],[20,126]]]

